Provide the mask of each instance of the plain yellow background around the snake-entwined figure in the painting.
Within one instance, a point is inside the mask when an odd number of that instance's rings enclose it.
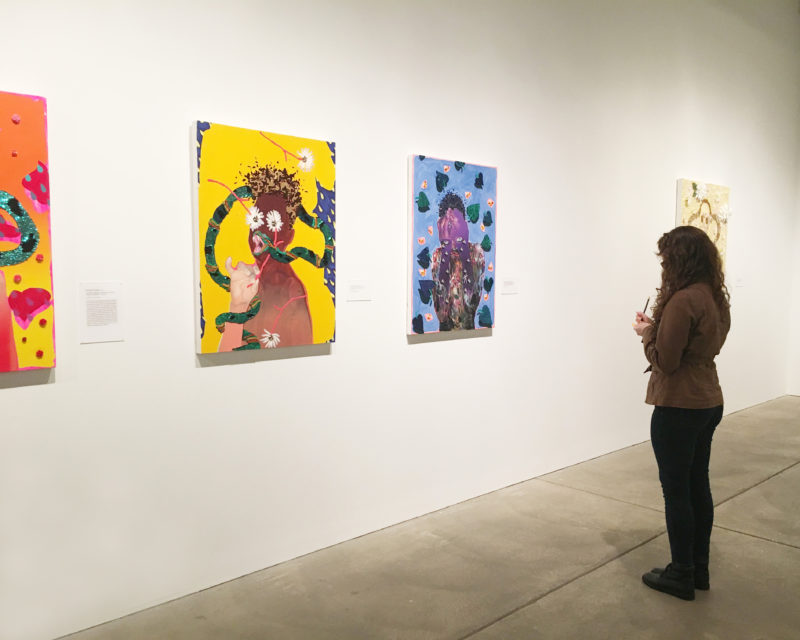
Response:
[[[200,153],[200,181],[198,185],[199,237],[198,259],[200,260],[200,291],[203,296],[203,314],[205,316],[205,335],[201,342],[202,353],[215,353],[219,348],[221,334],[215,326],[215,319],[220,313],[229,311],[230,294],[211,279],[205,268],[205,237],[208,221],[214,210],[230,195],[225,187],[209,182],[209,179],[224,183],[231,189],[245,184],[244,174],[255,164],[288,169],[300,182],[303,207],[313,216],[317,206],[316,180],[326,189],[334,188],[335,166],[330,149],[322,140],[296,138],[275,133],[264,132],[270,140],[287,151],[297,154],[300,149],[310,149],[314,164],[310,171],[301,171],[297,160],[292,156],[285,157],[283,151],[264,138],[259,131],[211,124],[203,133],[203,144]],[[248,206],[251,200],[244,201]],[[322,256],[325,241],[322,232],[310,229],[307,225],[295,221],[294,241],[286,247],[306,247]],[[216,258],[220,271],[229,275],[225,269],[225,259],[230,256],[236,266],[239,262],[253,264],[255,258],[247,244],[249,228],[245,222],[245,209],[236,203],[223,221],[217,236]],[[328,342],[333,339],[335,326],[335,309],[333,299],[324,282],[324,270],[318,269],[305,260],[297,259],[291,263],[297,276],[303,281],[308,293],[308,307],[311,311],[314,344]]]

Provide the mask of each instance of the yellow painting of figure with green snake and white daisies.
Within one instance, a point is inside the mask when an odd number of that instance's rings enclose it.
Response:
[[[332,342],[333,142],[209,122],[197,140],[197,352]]]

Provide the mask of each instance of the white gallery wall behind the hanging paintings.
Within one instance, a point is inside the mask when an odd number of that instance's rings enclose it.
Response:
[[[647,439],[630,322],[680,177],[731,187],[728,410],[787,389],[793,327],[766,310],[796,247],[795,0],[5,13],[19,28],[0,39],[2,89],[49,101],[58,368],[0,376],[2,638],[96,624]],[[337,142],[339,291],[370,278],[375,299],[338,296],[329,355],[194,356],[194,119]],[[491,337],[406,340],[412,153],[499,167],[497,275],[521,293],[498,296]],[[78,283],[104,279],[125,283],[128,339],[79,346]]]

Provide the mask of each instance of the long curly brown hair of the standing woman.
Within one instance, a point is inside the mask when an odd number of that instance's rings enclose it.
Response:
[[[675,227],[658,239],[661,258],[661,287],[653,308],[653,323],[658,328],[664,308],[676,292],[690,284],[705,282],[711,287],[720,315],[729,317],[730,294],[725,286],[722,259],[705,231],[697,227]]]

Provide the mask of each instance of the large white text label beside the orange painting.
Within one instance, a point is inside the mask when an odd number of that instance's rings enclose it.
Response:
[[[78,290],[81,344],[123,341],[122,283],[81,282]]]

